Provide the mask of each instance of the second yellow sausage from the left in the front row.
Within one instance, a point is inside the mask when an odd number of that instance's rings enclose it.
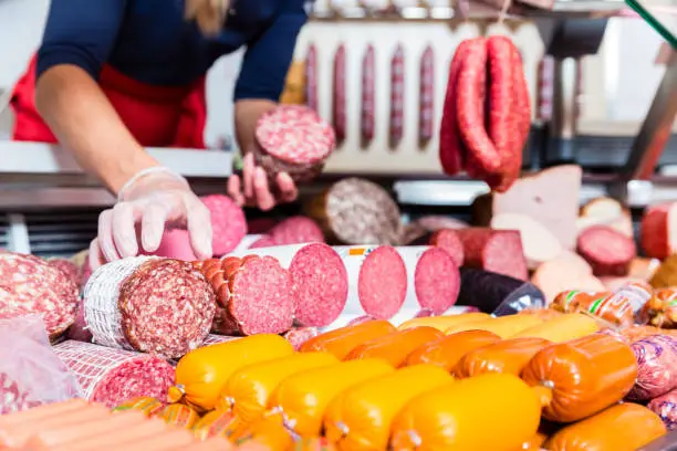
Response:
[[[242,421],[251,422],[263,415],[270,395],[287,377],[337,363],[338,359],[329,353],[298,353],[247,366],[228,379],[218,407],[232,410]]]

